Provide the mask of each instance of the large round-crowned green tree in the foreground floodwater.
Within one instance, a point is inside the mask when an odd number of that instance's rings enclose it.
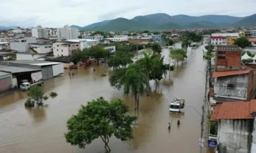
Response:
[[[102,97],[81,105],[78,113],[67,121],[66,141],[79,148],[86,148],[93,140],[101,138],[107,152],[109,139],[115,136],[121,141],[133,138],[132,124],[137,119],[127,115],[129,108],[120,99],[107,101]]]

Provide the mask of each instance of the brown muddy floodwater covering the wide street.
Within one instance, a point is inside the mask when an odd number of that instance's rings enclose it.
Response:
[[[200,116],[190,107],[184,114],[169,114],[168,104],[175,97],[184,98],[186,104],[201,112],[204,96],[206,62],[202,48],[188,49],[187,63],[160,81],[155,88],[154,81],[150,97],[142,97],[140,109],[133,111],[133,98],[123,96],[122,91],[113,89],[108,82],[111,72],[105,65],[87,70],[74,70],[74,77],[68,75],[45,82],[46,93],[57,92],[58,96],[46,101],[48,106],[25,109],[25,92],[0,99],[0,152],[104,152],[103,143],[97,139],[86,149],[79,149],[66,143],[63,133],[67,131],[66,121],[75,114],[81,104],[103,96],[112,100],[122,98],[131,107],[131,113],[138,116],[138,127],[134,128],[134,139],[121,142],[111,138],[112,152],[198,152]],[[168,55],[164,49],[163,56]],[[168,61],[166,61],[168,62]],[[100,75],[107,74],[106,77]],[[181,125],[176,125],[177,120]],[[173,121],[172,121],[173,120]],[[168,122],[172,127],[167,129]]]

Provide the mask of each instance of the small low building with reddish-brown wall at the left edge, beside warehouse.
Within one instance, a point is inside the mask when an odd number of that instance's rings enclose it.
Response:
[[[10,73],[0,72],[0,92],[10,89],[12,75]]]

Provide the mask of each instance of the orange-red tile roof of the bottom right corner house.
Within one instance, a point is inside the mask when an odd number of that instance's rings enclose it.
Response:
[[[253,119],[251,113],[256,112],[256,100],[224,102],[215,107],[210,121],[219,119]]]

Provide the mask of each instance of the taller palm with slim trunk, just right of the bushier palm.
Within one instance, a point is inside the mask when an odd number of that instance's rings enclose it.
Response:
[[[138,62],[142,65],[145,70],[147,78],[147,96],[150,95],[150,72],[154,69],[154,60],[158,57],[157,55],[151,55],[143,52],[144,57],[141,58]]]

